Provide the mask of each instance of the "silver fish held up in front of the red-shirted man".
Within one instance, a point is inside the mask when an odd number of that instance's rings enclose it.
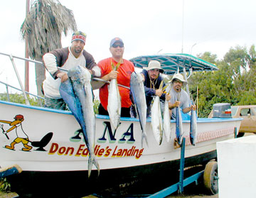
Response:
[[[118,62],[116,67],[114,67],[111,62],[112,69],[114,70],[115,68],[115,70],[117,70],[120,63],[121,62]],[[114,131],[116,131],[120,123],[121,115],[121,97],[117,87],[117,79],[112,79],[108,87],[107,112],[110,116],[110,122],[112,123],[112,126],[114,126]]]

